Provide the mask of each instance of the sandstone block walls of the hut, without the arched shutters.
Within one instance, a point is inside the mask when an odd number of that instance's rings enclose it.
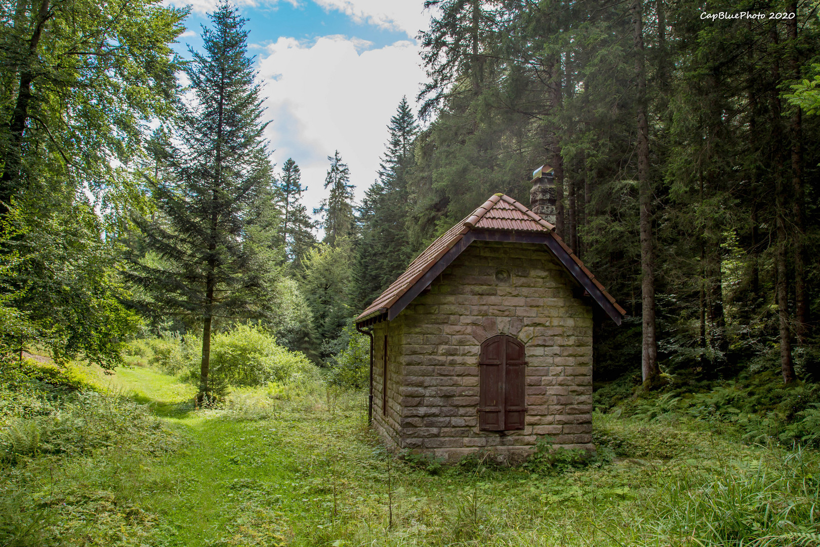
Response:
[[[459,458],[479,449],[521,457],[536,435],[591,449],[592,308],[539,244],[475,241],[393,321],[376,324],[373,416],[398,449]],[[384,335],[388,412],[381,413]],[[526,346],[526,427],[478,429],[480,344],[497,334]]]

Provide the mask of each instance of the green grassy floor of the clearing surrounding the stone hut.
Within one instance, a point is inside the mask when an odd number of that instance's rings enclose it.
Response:
[[[148,368],[95,381],[153,422],[121,434],[131,448],[2,467],[0,545],[820,545],[813,451],[681,417],[596,414],[611,463],[441,466],[389,457],[359,393],[272,387],[197,410],[193,386]]]

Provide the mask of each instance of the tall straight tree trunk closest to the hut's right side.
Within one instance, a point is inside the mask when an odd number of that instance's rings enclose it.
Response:
[[[638,194],[640,202],[640,269],[641,304],[643,307],[643,349],[640,364],[645,384],[658,381],[658,345],[655,340],[655,280],[652,240],[652,185],[649,182],[649,121],[646,107],[646,73],[644,66],[644,30],[641,0],[632,4],[635,30],[635,77],[637,79],[638,117]]]

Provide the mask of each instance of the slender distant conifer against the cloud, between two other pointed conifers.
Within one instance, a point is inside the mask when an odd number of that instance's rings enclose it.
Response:
[[[313,210],[313,214],[322,216],[319,226],[325,229],[325,239],[322,241],[335,247],[339,241],[353,235],[353,189],[350,183],[350,170],[342,162],[339,150],[333,156],[328,156],[330,169],[325,178],[325,189],[330,188],[330,194],[321,201],[320,206]]]

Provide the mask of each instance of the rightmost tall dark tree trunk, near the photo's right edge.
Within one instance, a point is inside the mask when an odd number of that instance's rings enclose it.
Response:
[[[789,35],[789,68],[791,78],[800,80],[799,52],[797,49],[797,2],[789,2],[786,11],[795,13],[794,19],[786,20],[786,32]],[[792,185],[792,222],[794,226],[795,253],[795,334],[797,343],[804,344],[809,331],[809,290],[806,287],[806,251],[805,251],[805,217],[803,189],[803,131],[801,112],[795,107],[791,116],[791,185]]]

